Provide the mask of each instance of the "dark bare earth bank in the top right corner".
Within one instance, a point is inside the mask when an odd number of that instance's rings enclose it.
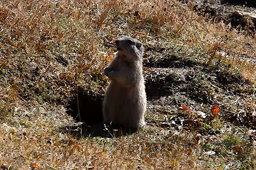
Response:
[[[199,14],[209,15],[214,21],[231,23],[234,28],[242,28],[248,34],[256,33],[256,2],[231,0],[194,1],[193,8]]]

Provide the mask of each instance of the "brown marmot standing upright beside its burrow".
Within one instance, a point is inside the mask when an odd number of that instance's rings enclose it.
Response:
[[[110,83],[103,100],[103,119],[113,125],[139,128],[145,125],[147,105],[142,75],[144,47],[130,37],[117,39],[116,47],[116,57],[104,69]]]

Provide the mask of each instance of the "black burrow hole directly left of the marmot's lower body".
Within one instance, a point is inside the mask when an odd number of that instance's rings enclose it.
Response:
[[[85,91],[79,86],[77,90],[73,91],[73,97],[67,106],[67,113],[76,122],[85,122],[89,126],[96,125],[103,121],[102,102],[103,95]]]

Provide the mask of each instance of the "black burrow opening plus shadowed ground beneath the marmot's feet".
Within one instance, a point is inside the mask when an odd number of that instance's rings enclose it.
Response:
[[[61,127],[60,130],[78,138],[81,135],[87,137],[118,137],[136,132],[137,128],[126,128],[110,122],[103,123],[103,97],[101,94],[84,90],[79,86],[77,90],[73,91],[73,97],[69,100],[67,106],[67,113],[76,122],[83,123]]]

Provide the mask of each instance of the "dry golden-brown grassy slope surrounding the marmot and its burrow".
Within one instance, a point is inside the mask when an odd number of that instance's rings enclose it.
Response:
[[[0,22],[1,169],[256,169],[246,32],[175,0],[5,0]],[[59,132],[74,124],[65,106],[77,86],[104,94],[122,35],[146,49],[146,127],[120,138]]]

